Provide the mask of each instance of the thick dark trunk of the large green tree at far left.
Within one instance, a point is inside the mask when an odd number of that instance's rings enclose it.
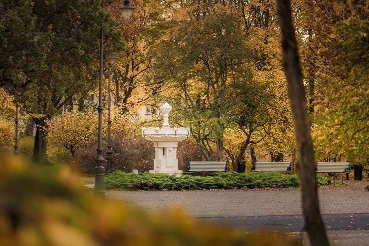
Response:
[[[47,135],[47,131],[44,129],[47,129],[47,124],[45,122],[45,118],[33,120],[36,124],[36,136],[34,138],[32,161],[36,164],[49,165],[50,162],[47,160],[46,156],[47,140],[45,137]]]

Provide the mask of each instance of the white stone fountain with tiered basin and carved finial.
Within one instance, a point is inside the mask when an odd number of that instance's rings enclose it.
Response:
[[[160,109],[164,118],[162,128],[142,128],[142,136],[154,142],[155,147],[154,170],[149,172],[181,176],[183,170],[178,170],[177,147],[178,142],[189,137],[189,127],[171,128],[168,123],[171,105],[165,103]]]

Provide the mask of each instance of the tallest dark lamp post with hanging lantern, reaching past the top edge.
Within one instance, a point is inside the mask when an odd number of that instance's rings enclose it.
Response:
[[[101,0],[101,8],[104,7],[104,1]],[[126,19],[130,18],[133,14],[133,10],[135,9],[130,5],[129,0],[124,1],[124,5],[119,7],[122,12],[122,16]],[[104,157],[103,157],[103,147],[102,147],[102,115],[104,107],[102,106],[102,92],[103,92],[103,53],[104,48],[104,31],[103,31],[103,21],[100,21],[100,83],[99,83],[99,106],[97,107],[97,112],[99,114],[99,125],[98,125],[98,144],[97,144],[97,157],[95,159],[96,167],[95,167],[95,194],[105,196],[104,190],[104,172],[105,168]]]

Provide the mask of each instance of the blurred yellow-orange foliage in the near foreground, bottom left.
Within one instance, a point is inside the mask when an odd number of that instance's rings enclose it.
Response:
[[[204,226],[181,212],[146,214],[97,197],[70,171],[40,176],[38,165],[2,159],[0,245],[5,246],[294,246],[290,237],[251,236]]]

